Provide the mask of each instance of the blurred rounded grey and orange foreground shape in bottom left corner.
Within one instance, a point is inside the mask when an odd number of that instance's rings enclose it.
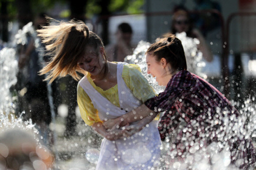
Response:
[[[34,134],[34,135],[33,135]],[[49,170],[54,161],[36,134],[23,129],[5,129],[0,133],[0,170]]]

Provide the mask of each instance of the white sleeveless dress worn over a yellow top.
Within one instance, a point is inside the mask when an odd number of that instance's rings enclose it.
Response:
[[[123,65],[118,63],[117,81],[120,107],[113,105],[94,89],[86,76],[79,85],[91,98],[93,106],[98,110],[101,120],[116,118],[126,114],[142,103],[135,98],[122,78]],[[137,122],[133,123],[137,124]],[[100,157],[96,170],[148,170],[157,166],[160,159],[160,135],[157,129],[158,121],[153,120],[140,132],[126,139],[109,141],[104,138],[101,142]]]

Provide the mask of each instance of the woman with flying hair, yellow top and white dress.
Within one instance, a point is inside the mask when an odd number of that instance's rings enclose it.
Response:
[[[81,116],[87,125],[101,134],[100,157],[96,170],[140,170],[155,167],[160,156],[158,120],[153,120],[141,133],[124,137],[114,125],[111,131],[103,121],[119,117],[155,96],[154,90],[134,64],[107,61],[101,38],[89,31],[82,21],[57,22],[38,30],[53,56],[40,71],[48,74],[52,82],[57,77],[70,74],[80,80],[77,72],[84,74],[77,86],[77,101]],[[154,116],[155,117],[155,116]],[[134,125],[144,126],[147,119],[137,117]]]

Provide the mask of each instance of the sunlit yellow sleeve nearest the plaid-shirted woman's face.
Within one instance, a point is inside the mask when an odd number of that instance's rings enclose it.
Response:
[[[155,90],[142,75],[138,65],[124,65],[122,77],[132,94],[143,103],[147,99],[155,97]]]

